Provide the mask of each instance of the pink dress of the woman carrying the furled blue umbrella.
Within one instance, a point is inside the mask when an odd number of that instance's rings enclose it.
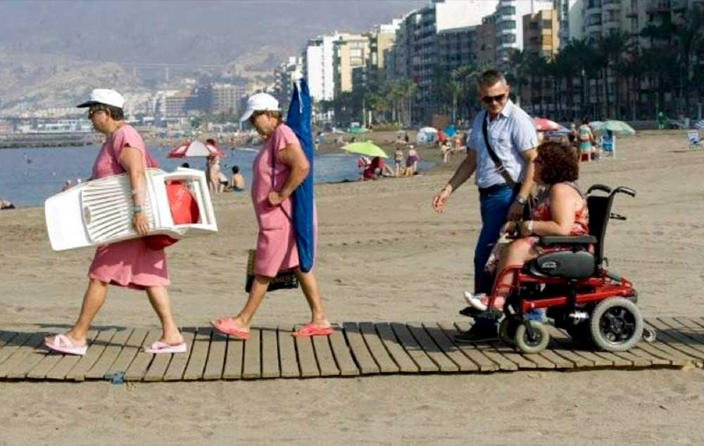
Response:
[[[299,144],[298,138],[290,127],[281,124],[266,139],[252,165],[252,204],[259,224],[254,273],[260,276],[275,277],[279,271],[298,267],[291,198],[276,207],[268,200],[269,192],[281,191],[291,173],[289,166],[273,159],[287,144]],[[273,175],[272,165],[275,166]]]

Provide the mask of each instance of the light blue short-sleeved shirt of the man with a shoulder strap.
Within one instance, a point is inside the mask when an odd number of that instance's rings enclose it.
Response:
[[[469,150],[477,153],[477,170],[474,183],[480,188],[505,183],[505,179],[496,172],[496,164],[491,160],[484,144],[482,123],[486,119],[486,111],[478,113],[472,122],[472,134],[469,139]],[[523,152],[538,146],[538,134],[533,120],[516,106],[510,99],[506,101],[503,110],[486,128],[489,144],[501,160],[503,166],[514,181],[523,181],[525,160]]]

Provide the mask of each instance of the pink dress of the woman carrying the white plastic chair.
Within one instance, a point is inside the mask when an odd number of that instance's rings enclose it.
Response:
[[[93,165],[93,179],[125,173],[118,160],[122,149],[128,145],[142,152],[144,167],[157,167],[156,161],[146,151],[144,141],[137,130],[125,124],[100,148]],[[164,250],[148,248],[142,238],[99,246],[88,276],[91,279],[138,290],[143,290],[146,286],[169,284]]]

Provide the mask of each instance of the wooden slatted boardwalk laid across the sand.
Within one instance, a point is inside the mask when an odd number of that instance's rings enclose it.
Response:
[[[263,326],[246,342],[209,327],[186,328],[189,351],[181,355],[144,352],[158,329],[105,329],[89,333],[84,357],[48,352],[41,346],[44,332],[0,331],[0,380],[206,381],[703,366],[704,318],[658,317],[646,324],[658,340],[621,353],[580,350],[551,327],[549,348],[536,355],[498,341],[457,345],[452,336],[468,325],[451,322],[345,322],[332,336],[315,338],[293,338],[294,326]]]

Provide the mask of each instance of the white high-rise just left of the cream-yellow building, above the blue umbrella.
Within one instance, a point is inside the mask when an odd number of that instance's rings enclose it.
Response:
[[[337,32],[318,36],[303,50],[303,75],[314,101],[332,101],[335,97],[333,42],[339,39]]]

